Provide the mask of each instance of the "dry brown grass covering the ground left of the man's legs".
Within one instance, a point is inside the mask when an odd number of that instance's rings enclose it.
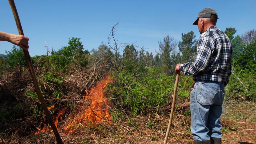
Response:
[[[187,131],[189,117],[175,115],[168,143],[192,143]],[[119,122],[98,124],[97,128],[82,126],[70,136],[61,134],[64,143],[163,143],[169,119],[159,115],[124,118]],[[151,123],[154,122],[155,126]],[[18,134],[3,139],[6,143],[56,143],[54,134]]]

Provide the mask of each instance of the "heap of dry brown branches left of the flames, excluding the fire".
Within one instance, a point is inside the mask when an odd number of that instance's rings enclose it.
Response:
[[[73,111],[73,107],[85,103],[82,97],[100,79],[99,73],[103,73],[102,70],[98,70],[99,66],[102,65],[89,68],[74,66],[69,73],[46,73],[35,67],[47,106],[55,105],[55,108],[50,110],[52,117],[56,117],[61,109],[67,109],[67,115]],[[51,77],[48,78],[47,75]],[[58,81],[55,81],[55,78]],[[7,137],[20,132],[22,135],[31,134],[43,121],[41,104],[26,67],[1,75],[0,115],[0,135]]]

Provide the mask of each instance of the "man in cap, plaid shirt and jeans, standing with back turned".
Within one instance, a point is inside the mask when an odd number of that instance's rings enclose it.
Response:
[[[219,118],[225,95],[224,87],[231,75],[231,42],[217,28],[218,15],[214,9],[199,12],[193,25],[198,25],[198,40],[194,62],[177,64],[175,72],[193,75],[190,93],[191,133],[195,143],[221,143],[222,126]]]

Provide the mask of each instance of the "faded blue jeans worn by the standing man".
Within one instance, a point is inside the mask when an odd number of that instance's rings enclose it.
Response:
[[[196,81],[190,93],[191,133],[195,141],[221,138],[219,118],[225,96],[224,84]]]

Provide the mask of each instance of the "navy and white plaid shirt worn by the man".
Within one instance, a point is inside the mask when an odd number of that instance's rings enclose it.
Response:
[[[198,39],[194,62],[179,66],[185,75],[193,75],[196,80],[229,82],[233,50],[227,35],[217,26],[209,27]]]

